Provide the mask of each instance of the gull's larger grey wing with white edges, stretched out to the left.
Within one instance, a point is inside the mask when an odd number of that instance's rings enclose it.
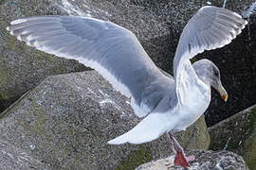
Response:
[[[136,36],[111,22],[39,16],[15,20],[10,25],[7,29],[18,40],[97,70],[120,93],[132,98],[138,116],[152,111],[169,86]]]

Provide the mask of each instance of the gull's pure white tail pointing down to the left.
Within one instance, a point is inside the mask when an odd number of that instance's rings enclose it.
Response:
[[[108,144],[142,144],[155,140],[171,128],[168,121],[170,114],[151,113],[137,124],[136,127],[119,137],[111,140]]]

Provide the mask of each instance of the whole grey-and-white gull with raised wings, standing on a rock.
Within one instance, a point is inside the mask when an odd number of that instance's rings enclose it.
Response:
[[[227,101],[218,68],[208,59],[193,64],[204,50],[222,47],[247,25],[226,8],[200,8],[185,26],[174,56],[174,78],[164,76],[144,51],[137,37],[111,22],[78,16],[37,16],[12,21],[7,29],[18,40],[39,50],[77,59],[97,70],[120,93],[131,98],[136,127],[108,144],[142,144],[164,133],[176,152],[175,164],[190,166],[175,131],[191,126],[210,104],[210,87]]]

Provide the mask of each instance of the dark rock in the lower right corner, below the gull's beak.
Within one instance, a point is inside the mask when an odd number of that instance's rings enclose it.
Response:
[[[209,127],[210,149],[227,149],[241,155],[256,169],[256,105]]]

